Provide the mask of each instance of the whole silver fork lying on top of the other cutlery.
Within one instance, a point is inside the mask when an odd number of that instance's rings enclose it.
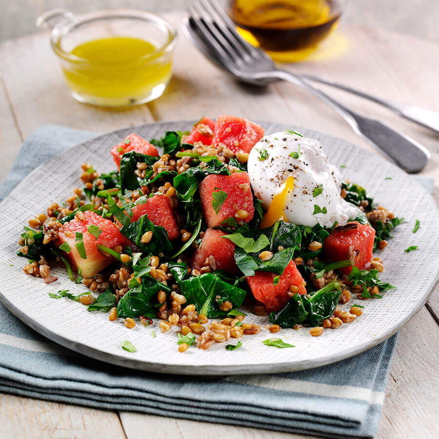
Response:
[[[243,40],[235,24],[215,1],[195,0],[191,16],[183,21],[183,31],[201,52],[241,81],[266,85],[286,80],[320,99],[343,117],[363,139],[378,147],[407,172],[419,172],[430,158],[419,142],[384,123],[365,118],[314,88],[306,79],[278,69],[262,50]]]

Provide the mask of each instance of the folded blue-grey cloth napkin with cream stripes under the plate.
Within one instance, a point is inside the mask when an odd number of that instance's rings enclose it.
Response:
[[[93,136],[60,126],[38,129],[0,186],[0,200],[35,167]],[[112,410],[366,438],[378,430],[396,340],[397,335],[350,359],[293,373],[228,378],[145,374],[67,350],[0,303],[0,391]]]

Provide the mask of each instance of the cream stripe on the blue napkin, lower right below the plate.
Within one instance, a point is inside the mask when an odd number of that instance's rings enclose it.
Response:
[[[299,379],[289,379],[277,375],[256,375],[227,377],[226,381],[239,382],[258,387],[265,387],[274,390],[284,390],[288,392],[308,393],[322,397],[359,399],[369,404],[382,405],[384,392],[375,392],[363,387],[336,386],[332,384],[322,384],[313,381],[300,381]]]

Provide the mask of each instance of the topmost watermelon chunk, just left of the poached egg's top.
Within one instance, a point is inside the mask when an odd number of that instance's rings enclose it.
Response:
[[[236,116],[218,116],[215,123],[214,145],[220,143],[233,152],[249,153],[264,135],[264,129],[257,123]]]

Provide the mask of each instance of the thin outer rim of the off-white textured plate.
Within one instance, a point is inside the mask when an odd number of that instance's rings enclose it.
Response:
[[[129,126],[129,127],[124,127],[124,128],[119,128],[117,130],[110,131],[108,133],[104,133],[101,135],[98,134],[96,137],[93,137],[89,140],[85,140],[84,142],[78,143],[76,145],[73,145],[70,148],[67,148],[66,150],[56,154],[54,157],[45,161],[44,163],[41,163],[37,168],[35,168],[31,173],[29,173],[26,176],[26,178],[24,180],[22,180],[4,198],[4,200],[2,200],[0,202],[0,208],[5,203],[5,201],[11,196],[11,194],[13,194],[15,191],[20,190],[20,186],[22,184],[25,184],[26,180],[28,180],[34,173],[38,172],[42,166],[49,164],[53,160],[57,160],[59,158],[59,156],[62,156],[64,154],[67,155],[69,153],[69,151],[72,149],[75,149],[79,146],[86,145],[89,142],[94,142],[94,141],[97,141],[99,139],[111,136],[111,135],[117,136],[118,133],[120,133],[122,131],[126,131],[126,130],[135,131],[136,129],[145,128],[145,127],[152,126],[152,125],[154,125],[154,126],[169,125],[169,124],[173,124],[173,123],[176,123],[176,124],[177,123],[188,123],[188,125],[189,125],[189,124],[193,124],[194,121],[195,121],[194,119],[190,119],[190,120],[169,120],[169,121],[165,120],[165,121],[143,123],[143,124],[135,125],[132,127]],[[271,121],[266,121],[266,120],[265,121],[256,120],[256,122],[260,123],[260,124],[275,123],[278,125],[287,126],[287,124],[283,124],[283,123],[279,123],[279,122],[271,122]],[[364,153],[366,153],[368,155],[375,155],[373,152],[366,150],[365,148],[363,148],[359,145],[356,145],[355,143],[352,143],[348,140],[344,140],[344,139],[341,139],[341,138],[338,138],[335,136],[327,135],[325,133],[321,133],[321,132],[316,131],[314,129],[304,128],[304,127],[298,127],[298,129],[312,131],[314,133],[320,134],[321,136],[323,136],[325,138],[342,141],[343,143],[345,143],[347,145],[350,145],[350,146],[353,146],[354,148],[360,149],[361,151],[363,151]],[[398,166],[396,166],[391,161],[387,160],[385,157],[379,157],[379,159],[389,162],[393,167],[395,167],[398,170],[398,172],[404,173],[404,171],[402,169],[400,169]],[[437,206],[435,200],[433,199],[433,197],[431,196],[431,194],[429,194],[425,190],[425,188],[419,184],[418,181],[413,179],[413,177],[410,174],[405,173],[405,177],[408,178],[412,184],[417,185],[420,188],[420,190],[422,190],[430,198],[430,200],[436,206],[436,212],[439,213],[438,206]],[[293,371],[298,371],[298,370],[306,370],[306,369],[312,369],[315,367],[320,367],[320,366],[332,364],[332,363],[341,361],[343,359],[353,357],[354,355],[360,354],[360,353],[378,345],[379,343],[385,341],[386,339],[389,339],[393,335],[395,335],[405,324],[407,324],[407,322],[410,319],[412,319],[419,312],[419,310],[424,306],[426,301],[429,299],[431,294],[434,292],[434,290],[436,289],[436,286],[438,284],[439,284],[439,267],[438,267],[438,270],[436,273],[436,278],[433,279],[431,284],[426,288],[425,294],[423,295],[422,299],[419,300],[418,305],[406,316],[405,319],[399,321],[399,323],[392,326],[387,332],[385,332],[380,337],[375,338],[373,340],[367,340],[359,345],[356,345],[348,350],[343,351],[342,354],[339,354],[339,353],[326,354],[324,357],[319,357],[319,358],[315,358],[315,359],[304,359],[304,360],[296,361],[295,363],[287,361],[287,362],[279,362],[279,363],[275,363],[275,364],[273,364],[273,363],[258,363],[258,364],[245,363],[245,364],[239,364],[239,365],[232,364],[232,365],[228,365],[228,366],[222,365],[222,366],[220,366],[220,370],[218,369],[218,366],[206,365],[206,364],[202,364],[202,363],[201,364],[198,363],[196,365],[191,364],[191,365],[182,366],[182,365],[176,365],[176,364],[169,364],[166,362],[158,362],[157,359],[155,359],[152,362],[152,361],[148,361],[148,360],[144,360],[144,359],[142,359],[142,360],[129,359],[129,358],[126,358],[126,357],[121,356],[121,355],[106,353],[106,352],[101,351],[99,349],[96,349],[94,347],[90,347],[88,345],[85,345],[79,341],[75,341],[71,338],[57,334],[56,332],[47,329],[45,326],[43,326],[38,321],[29,318],[24,311],[18,309],[12,302],[9,301],[9,299],[6,299],[6,297],[3,296],[2,292],[1,292],[1,288],[0,288],[0,301],[4,304],[4,306],[12,314],[14,314],[18,319],[20,319],[27,326],[29,326],[30,328],[32,328],[33,330],[38,332],[40,335],[46,337],[49,340],[54,341],[55,343],[59,344],[60,346],[63,346],[71,351],[79,353],[79,354],[81,354],[85,357],[88,357],[88,358],[97,359],[99,361],[103,361],[103,362],[109,363],[109,364],[115,364],[115,365],[118,365],[121,367],[149,371],[149,372],[154,372],[154,373],[164,373],[164,374],[170,374],[170,375],[192,375],[192,376],[195,376],[195,375],[226,376],[226,375],[245,375],[245,374],[248,374],[250,372],[249,368],[251,368],[251,373],[269,373],[269,374],[281,373],[281,372],[293,372]],[[63,354],[61,353],[60,355],[63,355]],[[166,370],[164,370],[164,368]]]

